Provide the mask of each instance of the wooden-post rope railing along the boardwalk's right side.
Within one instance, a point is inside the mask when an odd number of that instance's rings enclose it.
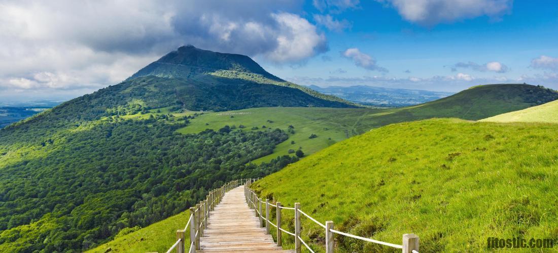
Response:
[[[252,184],[252,180],[250,181],[246,181],[246,183],[244,184],[244,196],[246,197],[246,202],[248,204],[248,206],[250,207],[250,209],[254,209],[254,215],[256,215],[259,218],[260,221],[260,227],[266,227],[266,234],[270,234],[270,225],[275,226],[277,228],[277,246],[281,246],[282,245],[282,232],[284,232],[287,235],[291,235],[295,237],[295,252],[296,253],[300,253],[301,251],[301,245],[304,245],[310,252],[314,252],[314,250],[312,250],[307,244],[306,242],[304,242],[304,240],[302,240],[302,238],[300,237],[300,230],[301,230],[301,221],[300,221],[300,217],[301,214],[306,216],[308,219],[310,219],[312,222],[314,222],[315,224],[318,224],[319,226],[323,227],[325,229],[325,252],[326,253],[331,253],[334,250],[334,234],[337,235],[341,235],[341,236],[347,236],[353,239],[357,239],[357,240],[362,240],[362,241],[366,241],[366,242],[372,242],[374,244],[379,244],[379,245],[384,245],[384,246],[388,246],[388,247],[393,247],[395,249],[401,249],[403,253],[419,253],[419,236],[416,236],[415,234],[404,234],[402,237],[402,244],[392,244],[389,242],[383,242],[383,241],[378,241],[378,240],[374,240],[374,239],[370,239],[370,238],[366,238],[366,237],[362,237],[362,236],[357,236],[357,235],[352,235],[352,234],[348,234],[345,232],[341,232],[338,230],[334,230],[334,224],[333,221],[326,221],[325,225],[321,222],[319,222],[318,220],[314,219],[312,216],[306,214],[306,212],[302,211],[300,209],[300,203],[295,203],[294,207],[286,207],[286,206],[282,206],[281,202],[276,202],[275,205],[271,204],[269,202],[268,199],[266,199],[265,201],[263,201],[261,198],[258,197],[258,195],[256,194],[256,192],[252,191],[249,186]],[[265,207],[265,217],[263,216],[263,211],[262,211],[262,205],[264,205]],[[270,206],[275,207],[276,210],[276,218],[277,218],[277,224],[273,224],[273,222],[270,221]],[[295,211],[295,232],[289,232],[285,229],[283,229],[281,227],[281,210],[282,209],[286,209],[286,210],[294,210]]]

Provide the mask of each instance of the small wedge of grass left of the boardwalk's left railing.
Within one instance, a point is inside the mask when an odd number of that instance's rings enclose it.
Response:
[[[86,252],[166,252],[176,242],[176,230],[184,229],[189,217],[190,211],[181,212]],[[190,248],[189,231],[185,235],[186,249]]]

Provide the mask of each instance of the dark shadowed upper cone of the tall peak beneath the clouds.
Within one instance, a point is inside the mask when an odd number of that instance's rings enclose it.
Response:
[[[142,68],[123,83],[126,91],[158,91],[166,106],[188,110],[251,107],[357,107],[271,75],[248,56],[184,46]],[[171,95],[171,96],[169,96]]]

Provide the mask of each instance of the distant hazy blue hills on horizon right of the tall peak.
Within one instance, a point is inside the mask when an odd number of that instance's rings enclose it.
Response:
[[[348,101],[359,103],[361,105],[382,107],[412,106],[454,94],[453,92],[406,90],[364,85],[349,87],[329,86],[325,88],[311,85],[309,88],[324,94],[337,96]]]

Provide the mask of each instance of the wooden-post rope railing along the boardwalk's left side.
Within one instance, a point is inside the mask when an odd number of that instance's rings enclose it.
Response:
[[[212,210],[215,206],[223,199],[226,192],[232,190],[241,185],[246,185],[250,181],[256,181],[255,179],[239,179],[225,183],[222,187],[213,189],[209,191],[208,195],[200,204],[196,204],[190,207],[190,217],[186,222],[186,226],[183,230],[176,231],[176,242],[173,244],[167,253],[176,249],[177,253],[185,253],[185,234],[190,228],[190,249],[189,253],[194,253],[196,250],[200,250],[200,237],[204,235],[204,230],[207,229],[208,219],[211,215]]]

